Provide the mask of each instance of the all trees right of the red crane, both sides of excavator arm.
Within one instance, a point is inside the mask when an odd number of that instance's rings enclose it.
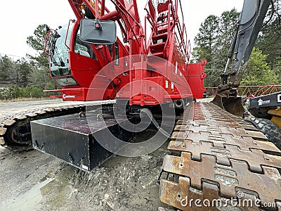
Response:
[[[275,8],[277,8],[276,5]],[[277,26],[279,21],[277,17],[281,16],[275,14],[270,19],[272,11],[271,8],[266,18],[269,20],[268,25],[263,27],[256,44],[257,48],[251,53],[251,58],[244,71],[242,85],[281,83],[281,30],[280,25],[279,28]],[[205,70],[207,73],[205,87],[217,87],[221,84],[220,75],[227,63],[228,51],[239,15],[235,9],[223,12],[220,17],[209,15],[195,37],[193,60],[197,62],[203,58],[208,60]]]

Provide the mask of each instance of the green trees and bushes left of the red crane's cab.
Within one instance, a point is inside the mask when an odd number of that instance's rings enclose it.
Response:
[[[0,84],[13,84],[0,89],[1,99],[39,98],[46,96],[44,89],[58,89],[48,70],[48,57],[43,53],[46,26],[39,25],[34,34],[27,37],[27,44],[37,51],[37,56],[29,55],[28,60],[21,58],[16,61],[0,56]]]

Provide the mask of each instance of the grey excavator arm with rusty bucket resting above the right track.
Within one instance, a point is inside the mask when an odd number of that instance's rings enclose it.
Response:
[[[263,20],[270,6],[270,0],[244,0],[233,42],[228,53],[226,69],[221,74],[221,85],[218,87],[213,103],[235,115],[242,115],[244,108],[237,89],[242,80],[251,51],[263,26]],[[230,71],[230,61],[233,66]]]

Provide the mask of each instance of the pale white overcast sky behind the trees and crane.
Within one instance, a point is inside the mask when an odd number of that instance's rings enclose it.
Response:
[[[137,0],[140,11],[147,0]],[[181,0],[185,15],[188,36],[192,40],[200,24],[208,15],[221,15],[223,11],[237,8],[242,10],[243,0]],[[46,23],[55,29],[74,18],[67,0],[14,0],[13,4],[0,1],[0,53],[1,56],[24,57],[34,53],[27,46],[26,39],[32,35],[38,25]],[[143,22],[143,18],[142,23]],[[15,57],[17,58],[17,57]]]

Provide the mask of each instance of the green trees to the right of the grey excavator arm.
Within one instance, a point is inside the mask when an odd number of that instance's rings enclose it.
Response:
[[[249,60],[247,71],[249,72],[251,69],[254,74],[252,77],[247,75],[249,84],[281,84],[281,11],[278,10],[279,1],[274,0],[273,2],[274,7],[270,6],[265,19],[266,25],[261,29],[256,42],[256,52],[251,54]],[[251,78],[254,82],[249,81]],[[245,80],[246,77],[244,77],[243,84]]]

